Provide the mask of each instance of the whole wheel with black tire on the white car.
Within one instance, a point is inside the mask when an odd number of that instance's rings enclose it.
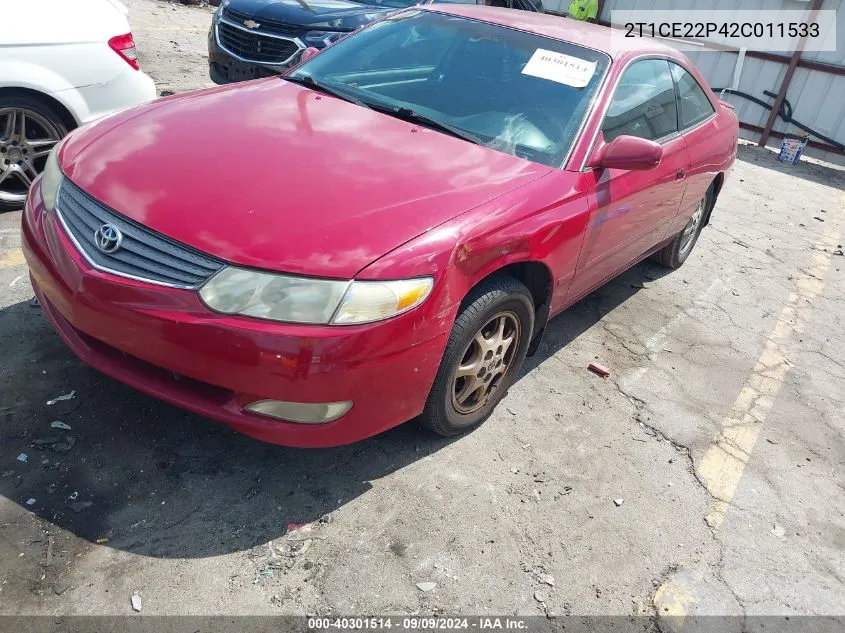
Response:
[[[23,207],[27,182],[41,173],[49,150],[67,133],[61,115],[40,99],[0,96],[0,212]]]

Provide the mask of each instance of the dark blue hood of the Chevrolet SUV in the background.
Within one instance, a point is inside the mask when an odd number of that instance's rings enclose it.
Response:
[[[396,10],[350,0],[235,0],[229,8],[259,23],[277,20],[329,31],[352,31]]]

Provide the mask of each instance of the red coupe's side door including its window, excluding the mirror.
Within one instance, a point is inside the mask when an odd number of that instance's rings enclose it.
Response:
[[[646,171],[592,168],[585,173],[592,211],[570,296],[581,296],[638,261],[659,244],[678,214],[689,157],[678,133],[669,62],[635,61],[620,76],[596,147],[618,136],[663,146],[658,167]]]

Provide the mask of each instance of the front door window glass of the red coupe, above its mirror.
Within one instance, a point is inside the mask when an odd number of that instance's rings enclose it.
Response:
[[[627,134],[657,141],[678,131],[675,86],[665,59],[631,64],[613,93],[602,124],[608,143]]]

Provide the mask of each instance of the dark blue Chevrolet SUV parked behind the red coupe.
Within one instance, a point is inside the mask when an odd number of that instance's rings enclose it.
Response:
[[[208,33],[209,75],[218,84],[277,75],[308,47],[324,48],[390,11],[432,2],[542,11],[541,0],[223,0]]]

